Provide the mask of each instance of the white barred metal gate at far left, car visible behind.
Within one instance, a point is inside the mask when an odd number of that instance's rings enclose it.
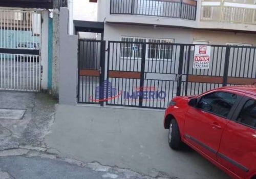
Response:
[[[40,91],[40,11],[0,9],[0,89]]]

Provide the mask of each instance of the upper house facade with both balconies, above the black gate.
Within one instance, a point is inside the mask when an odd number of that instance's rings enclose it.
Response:
[[[98,0],[104,40],[256,46],[256,2]]]

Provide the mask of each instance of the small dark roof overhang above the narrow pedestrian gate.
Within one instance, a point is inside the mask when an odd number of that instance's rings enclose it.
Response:
[[[103,22],[74,20],[74,26],[75,26],[76,32],[94,32],[94,33],[104,32]]]

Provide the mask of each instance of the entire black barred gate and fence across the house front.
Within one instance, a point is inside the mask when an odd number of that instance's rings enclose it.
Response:
[[[256,82],[255,47],[208,47],[208,68],[197,69],[195,44],[109,41],[105,52],[105,41],[80,40],[78,102],[162,109],[175,96]]]

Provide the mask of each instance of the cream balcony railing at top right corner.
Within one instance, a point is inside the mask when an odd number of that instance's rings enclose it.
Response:
[[[203,1],[201,21],[256,24],[256,6],[252,4]]]

